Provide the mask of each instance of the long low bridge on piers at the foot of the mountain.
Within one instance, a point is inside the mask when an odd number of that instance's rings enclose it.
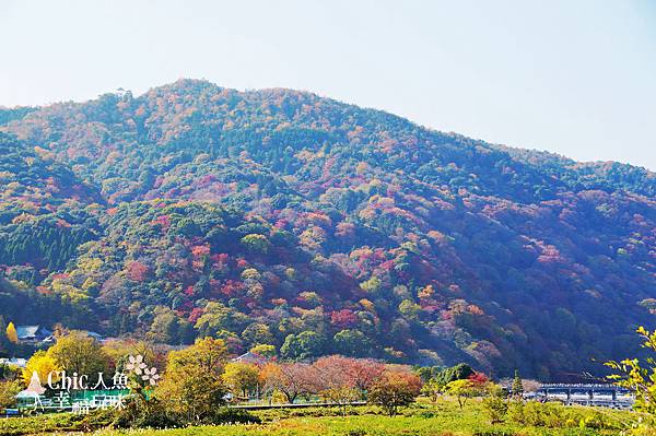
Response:
[[[602,384],[547,384],[525,396],[544,401],[560,401],[564,404],[597,405],[612,409],[630,409],[635,401],[633,392],[616,385]]]

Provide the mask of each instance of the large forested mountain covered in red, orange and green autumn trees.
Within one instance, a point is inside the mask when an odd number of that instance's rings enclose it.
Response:
[[[644,168],[195,80],[11,110],[4,284],[70,327],[566,379],[655,320]]]

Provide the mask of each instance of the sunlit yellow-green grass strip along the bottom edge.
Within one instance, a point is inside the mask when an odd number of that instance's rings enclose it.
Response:
[[[566,423],[553,421],[540,425],[506,422],[490,424],[481,404],[472,401],[460,410],[453,401],[417,404],[402,415],[382,415],[376,408],[353,408],[348,416],[337,409],[270,410],[258,412],[262,424],[222,425],[173,429],[97,429],[97,436],[595,436],[620,435],[635,420],[631,412],[589,408],[567,408],[574,416],[588,419]],[[585,420],[584,420],[585,421]],[[83,417],[71,414],[0,420],[0,435],[71,434],[91,429]]]

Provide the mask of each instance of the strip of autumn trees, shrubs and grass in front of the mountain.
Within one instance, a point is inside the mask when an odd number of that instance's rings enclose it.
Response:
[[[643,328],[639,333],[645,347],[656,351],[656,334]],[[147,365],[142,354],[134,357],[136,352],[143,353],[160,369]],[[125,406],[95,410],[87,415],[54,413],[2,420],[0,434],[55,431],[120,434],[140,428],[145,434],[159,435],[154,428],[161,428],[162,435],[167,432],[192,435],[195,427],[202,426],[203,434],[216,435],[411,432],[412,435],[642,436],[651,435],[655,428],[654,368],[641,366],[637,360],[608,363],[620,370],[611,378],[637,396],[637,412],[618,412],[525,402],[522,393],[531,384],[522,380],[518,373],[502,388],[466,364],[411,368],[339,355],[312,363],[262,358],[255,364],[231,362],[229,356],[221,339],[204,338],[191,346],[165,353],[139,342],[101,345],[80,332],[71,332],[60,337],[48,351],[35,353],[24,374],[0,368],[3,378],[0,406],[11,405],[12,396],[26,384],[31,370],[37,375],[45,369],[82,374],[85,368],[102,372],[110,367],[129,376],[126,384],[130,396]],[[646,362],[653,365],[652,360]],[[419,397],[420,393],[424,396]],[[281,409],[251,411],[235,406],[255,397],[268,401],[269,406],[297,400],[331,405],[292,409],[282,404]]]

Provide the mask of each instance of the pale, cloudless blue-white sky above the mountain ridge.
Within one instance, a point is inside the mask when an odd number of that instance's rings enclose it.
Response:
[[[656,170],[656,0],[0,1],[0,105],[292,87]]]

